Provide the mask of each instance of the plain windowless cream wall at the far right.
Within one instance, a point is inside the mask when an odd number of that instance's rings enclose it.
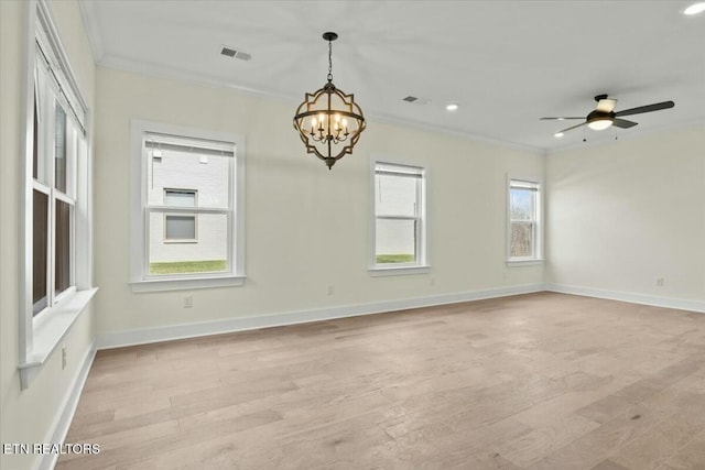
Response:
[[[704,305],[705,125],[557,152],[546,177],[550,283]]]

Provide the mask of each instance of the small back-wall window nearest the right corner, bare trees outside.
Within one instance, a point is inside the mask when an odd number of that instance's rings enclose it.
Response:
[[[541,260],[541,184],[509,179],[508,261]]]

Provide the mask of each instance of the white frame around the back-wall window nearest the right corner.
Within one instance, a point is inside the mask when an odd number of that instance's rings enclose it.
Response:
[[[511,189],[529,188],[534,192],[533,254],[530,256],[511,255]],[[538,177],[507,176],[507,265],[522,266],[543,263],[543,182]]]

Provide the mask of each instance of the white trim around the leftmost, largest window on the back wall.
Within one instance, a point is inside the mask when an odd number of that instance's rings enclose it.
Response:
[[[147,164],[142,155],[142,135],[154,132],[185,138],[205,139],[235,144],[235,179],[230,182],[235,190],[235,206],[230,237],[235,240],[230,244],[230,260],[234,261],[231,272],[216,274],[181,274],[174,276],[145,277],[147,260],[147,227],[144,207],[147,200]],[[132,120],[130,138],[130,287],[132,292],[183,291],[208,287],[228,287],[243,285],[245,275],[245,138],[237,134],[194,129],[162,122]],[[186,208],[187,210],[187,208]]]

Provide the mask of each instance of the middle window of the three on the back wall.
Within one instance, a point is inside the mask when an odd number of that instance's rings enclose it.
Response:
[[[372,270],[423,267],[425,170],[375,162]]]

